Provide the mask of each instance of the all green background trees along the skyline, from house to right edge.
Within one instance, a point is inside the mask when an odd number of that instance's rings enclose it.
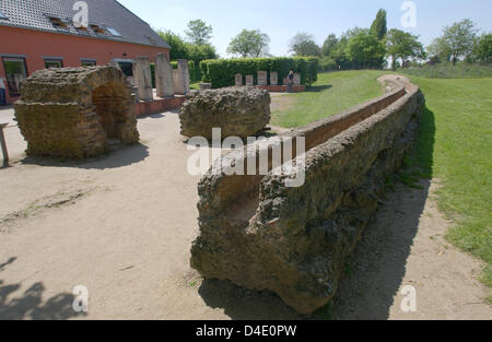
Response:
[[[296,57],[319,57],[321,70],[338,69],[382,69],[386,60],[393,69],[406,67],[412,60],[427,60],[431,63],[459,59],[469,62],[492,62],[492,34],[478,35],[476,25],[470,20],[462,20],[443,30],[429,47],[424,49],[419,36],[398,28],[387,27],[387,13],[377,12],[376,19],[368,28],[354,27],[340,37],[330,34],[318,46],[313,35],[301,32],[290,42],[290,52]],[[159,31],[171,45],[171,59],[188,59],[195,62],[194,81],[201,79],[199,63],[203,60],[218,59],[215,48],[210,39],[213,30],[201,20],[188,23],[185,37],[171,31]],[[269,54],[270,38],[259,30],[243,30],[234,37],[227,54],[239,58],[272,57]]]

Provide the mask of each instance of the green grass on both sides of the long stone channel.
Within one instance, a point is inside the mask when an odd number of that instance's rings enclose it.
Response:
[[[320,74],[311,92],[292,95],[286,110],[272,114],[272,123],[303,126],[376,97],[384,73]],[[485,261],[481,280],[492,286],[492,79],[411,79],[427,103],[409,163],[440,180],[440,208],[455,222],[447,238]]]

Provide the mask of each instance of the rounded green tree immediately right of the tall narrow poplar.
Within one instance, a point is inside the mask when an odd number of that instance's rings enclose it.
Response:
[[[409,58],[424,58],[425,52],[419,36],[393,28],[386,35],[387,55],[393,59],[393,70],[396,70],[396,62],[401,59],[405,67]]]

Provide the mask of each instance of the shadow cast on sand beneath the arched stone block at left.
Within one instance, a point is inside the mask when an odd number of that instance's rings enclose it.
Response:
[[[96,158],[60,160],[52,157],[24,157],[21,163],[25,165],[77,167],[84,169],[118,168],[140,163],[149,156],[149,148],[142,143],[122,146]]]

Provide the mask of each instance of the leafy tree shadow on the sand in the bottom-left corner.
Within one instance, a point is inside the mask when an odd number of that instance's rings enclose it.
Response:
[[[0,273],[15,262],[16,258],[10,258],[0,264]],[[73,295],[61,293],[47,299],[43,299],[45,286],[35,283],[28,287],[22,296],[14,295],[22,284],[4,284],[0,280],[0,320],[65,320],[81,317],[72,309]]]

